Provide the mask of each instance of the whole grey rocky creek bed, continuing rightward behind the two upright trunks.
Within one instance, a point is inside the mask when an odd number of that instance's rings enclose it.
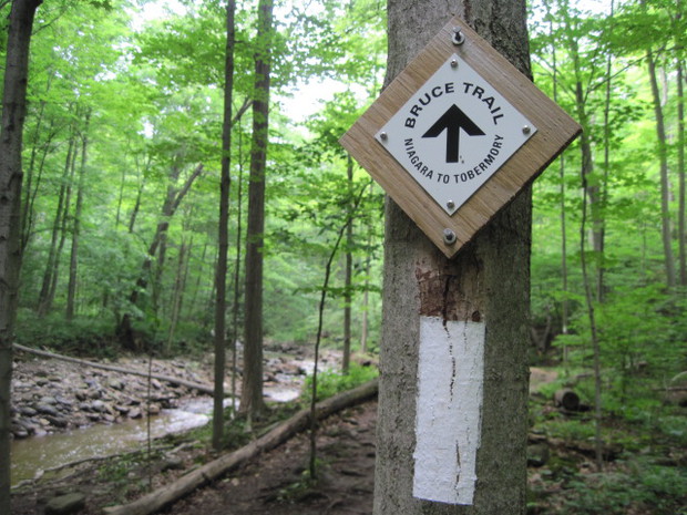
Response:
[[[267,398],[279,401],[298,395],[312,362],[308,349],[281,343],[265,351],[264,388]],[[326,351],[320,367],[335,365],[340,360],[337,351]],[[102,364],[102,363],[101,363]],[[172,377],[185,382],[204,384],[212,389],[213,358],[196,360],[121,358],[114,364],[146,374]],[[236,388],[240,389],[240,361]],[[230,392],[227,373],[225,392]],[[237,391],[237,395],[240,392]],[[184,384],[148,380],[127,373],[101,370],[57,359],[35,358],[17,352],[12,372],[12,423],[14,439],[44,436],[92,424],[115,424],[141,419],[147,413],[176,409],[184,402],[208,395]]]

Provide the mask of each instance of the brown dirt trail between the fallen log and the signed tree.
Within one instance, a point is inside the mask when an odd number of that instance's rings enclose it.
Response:
[[[322,423],[317,440],[321,478],[306,481],[309,441],[285,445],[174,504],[175,515],[325,515],[372,513],[377,402]]]

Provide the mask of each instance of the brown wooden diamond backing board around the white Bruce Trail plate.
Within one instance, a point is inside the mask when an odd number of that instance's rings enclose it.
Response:
[[[464,42],[454,44],[454,28]],[[387,122],[427,83],[451,55],[458,54],[536,127],[536,133],[452,216],[439,206],[375,138]],[[577,122],[540,91],[463,20],[453,18],[389,84],[379,99],[340,138],[420,229],[451,258],[495,214],[534,181],[582,132]],[[444,239],[447,230],[455,235]]]

